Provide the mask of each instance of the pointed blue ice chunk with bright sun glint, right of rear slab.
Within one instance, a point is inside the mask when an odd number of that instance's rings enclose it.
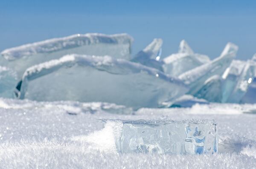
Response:
[[[138,62],[145,66],[156,68],[163,71],[162,62],[160,61],[162,53],[162,39],[154,39],[148,46],[140,51],[131,61]]]

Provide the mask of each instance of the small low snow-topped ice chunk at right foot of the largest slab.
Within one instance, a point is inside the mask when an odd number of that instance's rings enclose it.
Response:
[[[177,98],[171,107],[192,107],[195,104],[209,104],[209,102],[192,95],[183,95]]]

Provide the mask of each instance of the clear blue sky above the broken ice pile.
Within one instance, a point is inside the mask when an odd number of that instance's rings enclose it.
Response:
[[[0,51],[76,33],[126,32],[133,53],[155,37],[163,56],[185,39],[195,52],[217,57],[227,42],[237,58],[256,53],[256,1],[253,0],[0,0]]]

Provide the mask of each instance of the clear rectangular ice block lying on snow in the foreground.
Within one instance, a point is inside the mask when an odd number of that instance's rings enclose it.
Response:
[[[102,120],[113,130],[120,153],[203,154],[218,151],[214,120]]]

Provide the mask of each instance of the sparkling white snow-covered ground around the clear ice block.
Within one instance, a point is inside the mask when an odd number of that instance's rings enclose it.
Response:
[[[116,113],[125,113],[120,115]],[[108,103],[0,98],[0,168],[256,168],[256,104],[196,104],[136,112]],[[118,154],[96,119],[214,119],[213,155]],[[104,128],[104,129],[103,129]]]

